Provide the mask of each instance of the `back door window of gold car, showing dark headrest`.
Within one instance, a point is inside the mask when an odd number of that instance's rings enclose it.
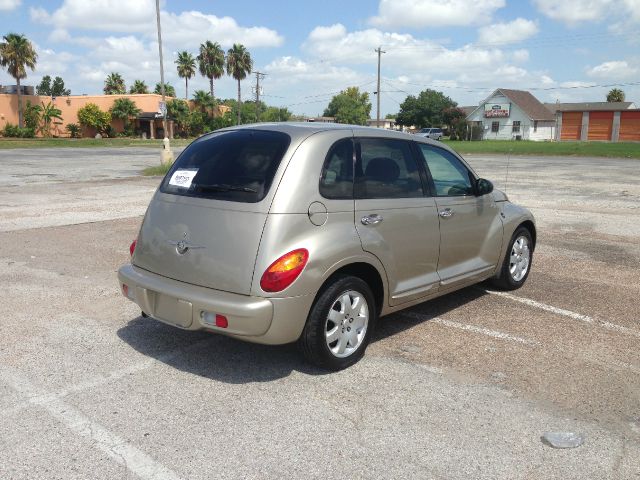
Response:
[[[422,197],[422,182],[411,145],[405,140],[362,138],[356,160],[357,198]]]

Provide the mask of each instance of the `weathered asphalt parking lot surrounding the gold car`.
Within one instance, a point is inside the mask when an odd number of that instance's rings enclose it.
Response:
[[[159,152],[0,150],[0,479],[640,478],[640,163],[468,159],[537,218],[528,283],[385,317],[326,374],[121,296]]]

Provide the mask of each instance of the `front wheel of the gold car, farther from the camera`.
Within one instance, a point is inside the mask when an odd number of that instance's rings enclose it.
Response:
[[[491,283],[501,290],[517,290],[529,277],[533,261],[533,240],[531,232],[519,227],[511,236],[509,248],[502,262],[500,275]]]

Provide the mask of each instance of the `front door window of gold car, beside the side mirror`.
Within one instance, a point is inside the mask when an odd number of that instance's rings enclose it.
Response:
[[[438,197],[473,195],[469,169],[451,152],[419,144]]]

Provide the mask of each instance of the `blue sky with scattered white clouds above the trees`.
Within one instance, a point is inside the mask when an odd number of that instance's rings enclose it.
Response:
[[[350,86],[369,92],[381,116],[427,88],[478,105],[497,88],[542,102],[604,101],[611,88],[640,106],[640,0],[161,0],[165,81],[184,98],[178,52],[205,40],[243,44],[265,73],[261,99],[298,115],[322,115]],[[120,73],[127,88],[160,79],[155,0],[0,0],[0,36],[24,34],[38,53],[26,85],[61,76],[74,95],[101,94]],[[14,84],[0,69],[0,84]],[[255,76],[241,83],[253,98]],[[198,74],[189,96],[208,90]],[[228,76],[217,98],[235,98]]]

